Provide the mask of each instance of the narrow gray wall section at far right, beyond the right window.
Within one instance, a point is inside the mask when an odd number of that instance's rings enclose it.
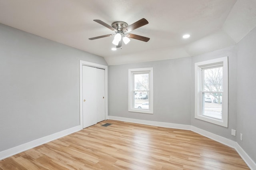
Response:
[[[237,51],[237,142],[256,162],[256,28]]]

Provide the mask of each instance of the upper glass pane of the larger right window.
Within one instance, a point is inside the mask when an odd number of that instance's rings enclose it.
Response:
[[[223,67],[204,69],[203,91],[223,91],[222,68]]]

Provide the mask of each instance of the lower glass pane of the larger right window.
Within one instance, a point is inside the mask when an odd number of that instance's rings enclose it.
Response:
[[[203,115],[222,119],[222,93],[203,93]]]

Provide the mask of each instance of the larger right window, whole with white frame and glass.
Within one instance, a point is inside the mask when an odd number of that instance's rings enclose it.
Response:
[[[195,118],[228,127],[228,57],[195,63]]]

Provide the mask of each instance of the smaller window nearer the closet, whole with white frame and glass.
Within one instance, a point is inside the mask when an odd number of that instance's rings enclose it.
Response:
[[[129,69],[129,111],[153,113],[153,68]]]

